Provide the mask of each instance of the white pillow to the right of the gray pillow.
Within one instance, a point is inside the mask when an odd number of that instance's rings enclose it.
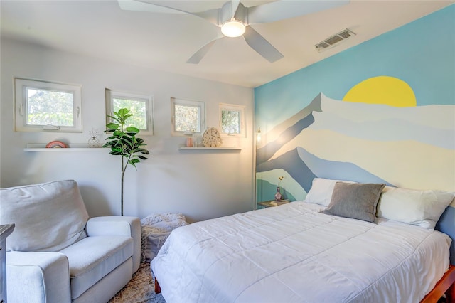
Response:
[[[432,230],[454,196],[446,191],[385,186],[376,216]]]

